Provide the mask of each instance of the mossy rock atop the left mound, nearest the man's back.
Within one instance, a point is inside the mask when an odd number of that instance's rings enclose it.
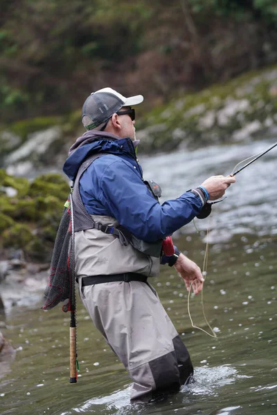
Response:
[[[30,184],[28,195],[35,196],[55,196],[58,199],[66,201],[69,195],[70,187],[60,174],[43,174],[37,177]]]

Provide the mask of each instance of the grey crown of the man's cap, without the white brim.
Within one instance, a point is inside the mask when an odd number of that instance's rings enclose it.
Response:
[[[124,102],[111,93],[98,92],[89,95],[82,107],[82,123],[87,129],[93,129],[107,121]]]

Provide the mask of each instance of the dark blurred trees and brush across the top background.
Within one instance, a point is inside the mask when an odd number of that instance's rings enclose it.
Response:
[[[1,0],[0,122],[107,85],[162,104],[276,62],[276,22],[276,0]]]

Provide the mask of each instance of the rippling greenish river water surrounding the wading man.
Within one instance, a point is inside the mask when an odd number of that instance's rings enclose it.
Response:
[[[143,157],[141,164],[145,178],[159,182],[166,200],[212,174],[229,174],[240,160],[272,143],[182,150]],[[195,383],[160,402],[129,405],[127,373],[78,300],[80,374],[76,384],[69,384],[69,315],[59,306],[40,310],[42,293],[35,293],[38,304],[7,310],[3,333],[17,356],[0,374],[1,415],[276,415],[276,165],[274,149],[237,175],[211,221],[197,220],[175,235],[179,249],[202,266],[206,229],[211,228],[203,302],[217,338],[192,327],[188,295],[175,270],[165,266],[153,279],[190,351]],[[195,325],[211,332],[199,296],[190,298],[190,314]]]

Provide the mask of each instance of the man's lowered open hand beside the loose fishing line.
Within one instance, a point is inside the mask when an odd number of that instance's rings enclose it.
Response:
[[[186,284],[186,289],[190,291],[190,284],[193,287],[193,293],[199,294],[203,288],[204,278],[199,266],[195,262],[190,261],[185,255],[180,254],[175,266],[177,273],[181,275]]]

